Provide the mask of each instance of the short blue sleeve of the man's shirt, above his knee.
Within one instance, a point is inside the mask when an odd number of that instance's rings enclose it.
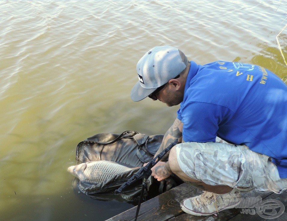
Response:
[[[183,122],[182,138],[185,142],[215,142],[218,127],[230,119],[231,111],[220,105],[188,102],[178,111]],[[181,118],[181,119],[180,119]]]

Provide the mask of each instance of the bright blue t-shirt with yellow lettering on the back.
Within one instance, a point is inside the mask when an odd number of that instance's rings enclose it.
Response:
[[[178,110],[185,142],[245,144],[287,178],[287,85],[263,67],[215,61],[191,67]]]

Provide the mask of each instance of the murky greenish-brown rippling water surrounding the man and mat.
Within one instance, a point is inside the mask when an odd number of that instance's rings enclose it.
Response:
[[[163,134],[178,107],[130,100],[136,63],[171,45],[190,60],[287,68],[276,36],[286,1],[0,1],[0,214],[106,220],[133,205],[74,192],[78,142],[96,133]],[[287,29],[278,36],[287,57]]]

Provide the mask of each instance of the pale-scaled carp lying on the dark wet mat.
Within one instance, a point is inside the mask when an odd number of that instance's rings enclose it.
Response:
[[[99,160],[70,166],[68,171],[82,182],[98,184],[117,174],[136,168],[138,167],[129,168],[113,161]]]

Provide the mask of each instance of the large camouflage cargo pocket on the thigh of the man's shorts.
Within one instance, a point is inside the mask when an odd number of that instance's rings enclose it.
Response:
[[[240,175],[240,152],[195,150],[195,175],[209,185],[231,185]]]

